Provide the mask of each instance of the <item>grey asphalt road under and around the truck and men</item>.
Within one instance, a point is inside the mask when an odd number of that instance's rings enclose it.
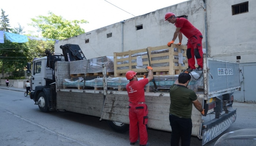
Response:
[[[106,121],[72,112],[43,113],[24,97],[25,89],[19,90],[22,92],[0,88],[1,146],[129,146],[129,134],[114,132]],[[234,103],[233,108],[237,108],[237,120],[222,134],[256,127],[256,104]],[[221,135],[204,146],[214,146]],[[170,137],[171,132],[148,130],[150,146],[169,146]],[[197,137],[191,138],[191,146],[201,143]]]

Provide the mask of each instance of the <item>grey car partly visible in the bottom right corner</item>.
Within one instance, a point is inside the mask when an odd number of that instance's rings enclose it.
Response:
[[[223,134],[214,146],[256,146],[256,127]]]

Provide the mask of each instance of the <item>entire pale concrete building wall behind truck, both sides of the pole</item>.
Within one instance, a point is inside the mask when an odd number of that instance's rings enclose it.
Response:
[[[253,47],[256,45],[256,0],[246,1],[249,1],[249,12],[232,15],[231,5],[243,3],[244,0],[207,0],[209,57],[236,61],[236,57],[241,56],[241,63],[256,62]],[[203,0],[189,0],[125,20],[123,51],[162,46],[171,41],[176,27],[164,20],[166,12],[173,12],[176,16],[187,15],[188,20],[202,32],[203,48],[206,48]],[[141,24],[143,29],[136,30],[136,26]],[[107,38],[111,32],[112,37]],[[85,43],[85,39],[90,42]],[[59,41],[55,45],[55,52],[62,53],[59,46],[66,43],[78,44],[87,59],[113,56],[114,52],[122,52],[122,23]],[[178,43],[178,39],[175,43]],[[187,38],[183,36],[182,44],[186,43]]]

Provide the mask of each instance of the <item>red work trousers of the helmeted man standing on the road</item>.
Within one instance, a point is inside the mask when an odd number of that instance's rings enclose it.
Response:
[[[130,120],[130,142],[136,142],[140,137],[140,145],[147,145],[147,122],[148,110],[146,104],[129,104],[129,120]]]

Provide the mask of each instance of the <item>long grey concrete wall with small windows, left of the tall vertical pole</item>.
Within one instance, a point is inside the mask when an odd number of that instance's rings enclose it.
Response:
[[[176,27],[165,21],[166,12],[173,12],[176,16],[187,15],[188,20],[204,33],[203,1],[189,0],[124,20],[124,23],[120,23],[123,21],[120,20],[112,25],[61,40],[55,45],[55,53],[62,53],[59,46],[67,43],[78,44],[87,59],[113,56],[114,52],[167,45],[167,42],[172,40]],[[142,25],[143,29],[136,30],[139,25]],[[107,38],[108,33],[112,33],[112,37]],[[85,43],[86,39],[89,39],[89,43]],[[178,43],[178,40],[175,43]],[[185,36],[182,43],[187,43]]]

